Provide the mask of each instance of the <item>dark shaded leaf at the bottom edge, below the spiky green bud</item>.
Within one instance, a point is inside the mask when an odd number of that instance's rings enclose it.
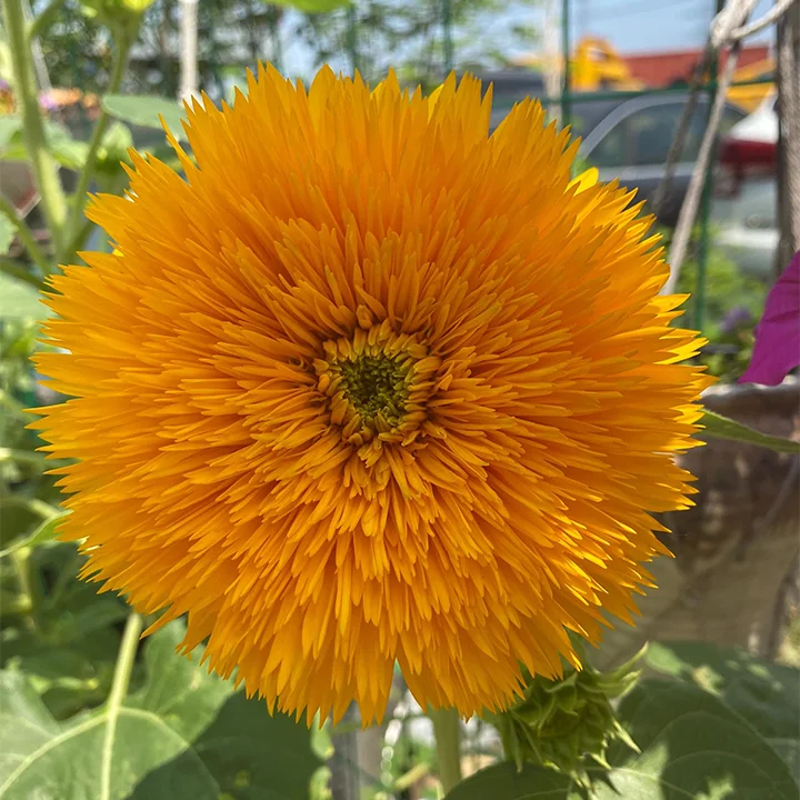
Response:
[[[517,764],[507,761],[461,781],[447,800],[577,800],[580,796],[570,791],[571,784],[568,776],[554,770],[526,764],[518,771]]]

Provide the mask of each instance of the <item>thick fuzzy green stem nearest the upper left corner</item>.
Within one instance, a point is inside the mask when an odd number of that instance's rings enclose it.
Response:
[[[22,137],[33,169],[44,219],[50,229],[50,238],[58,252],[67,220],[67,201],[59,181],[58,164],[48,149],[22,2],[2,0],[2,9],[11,48],[13,86],[22,113]]]

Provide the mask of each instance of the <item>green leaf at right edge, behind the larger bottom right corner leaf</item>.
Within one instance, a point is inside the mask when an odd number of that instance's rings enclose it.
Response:
[[[800,669],[710,642],[652,642],[646,664],[719,697],[766,739],[798,737]]]

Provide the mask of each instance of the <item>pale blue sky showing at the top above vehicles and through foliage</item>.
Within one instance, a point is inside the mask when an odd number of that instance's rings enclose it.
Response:
[[[536,4],[510,0],[504,12],[493,12],[482,20],[481,30],[487,37],[498,38],[514,23],[541,30],[546,2],[560,4],[560,0],[542,0]],[[772,0],[761,0],[752,19],[761,17],[771,6]],[[622,53],[697,49],[708,37],[714,7],[714,0],[571,0],[571,38],[574,42],[586,34],[598,36]],[[773,29],[768,28],[747,41],[764,43],[772,38]],[[502,41],[497,44],[511,56],[521,54],[519,49],[503,48]],[[287,74],[308,76],[313,71],[309,52],[301,43],[287,40],[283,47]],[[528,48],[529,51],[537,49],[536,44]]]

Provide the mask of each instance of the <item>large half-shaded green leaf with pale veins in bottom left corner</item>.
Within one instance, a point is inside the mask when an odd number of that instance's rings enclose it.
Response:
[[[176,653],[180,622],[144,646],[147,682],[110,714],[59,724],[21,673],[0,673],[2,800],[303,800],[319,759],[303,724]],[[110,778],[108,791],[101,776]]]

